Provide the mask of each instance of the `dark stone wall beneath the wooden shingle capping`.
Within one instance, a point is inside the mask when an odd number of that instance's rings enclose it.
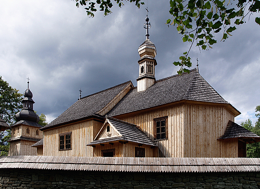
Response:
[[[260,172],[140,173],[0,169],[0,188],[258,188]]]

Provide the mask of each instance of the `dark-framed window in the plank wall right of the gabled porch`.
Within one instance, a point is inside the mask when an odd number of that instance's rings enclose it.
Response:
[[[168,119],[168,116],[153,119],[155,140],[161,140],[161,139],[168,138],[167,119]]]

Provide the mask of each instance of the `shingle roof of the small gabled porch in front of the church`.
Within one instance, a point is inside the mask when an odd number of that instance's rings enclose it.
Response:
[[[135,124],[112,117],[107,118],[107,122],[111,123],[122,136],[97,139],[87,145],[95,145],[112,141],[130,141],[139,144],[156,146],[156,144],[139,128],[139,126]]]

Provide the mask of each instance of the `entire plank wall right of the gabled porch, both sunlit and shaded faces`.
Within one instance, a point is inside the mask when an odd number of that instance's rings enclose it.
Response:
[[[165,157],[235,157],[237,140],[219,141],[234,116],[224,107],[188,105],[160,108],[139,114],[116,116],[139,125],[153,138],[153,118],[168,116],[168,139],[155,141]]]

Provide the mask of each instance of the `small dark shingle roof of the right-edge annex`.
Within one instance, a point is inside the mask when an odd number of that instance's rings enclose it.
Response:
[[[230,120],[227,123],[224,134],[217,139],[227,138],[242,138],[246,143],[260,141],[260,136]]]

